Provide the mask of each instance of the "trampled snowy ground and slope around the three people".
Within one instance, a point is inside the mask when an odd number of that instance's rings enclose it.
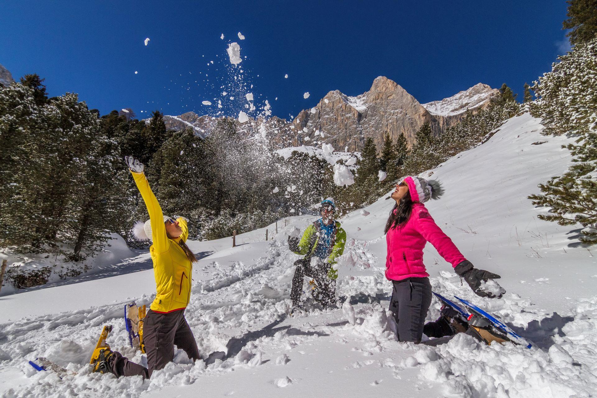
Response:
[[[143,363],[127,347],[123,304],[153,298],[152,270],[0,297],[0,394],[59,396],[277,397],[590,397],[597,391],[597,278],[593,252],[577,245],[578,231],[538,220],[546,209],[526,196],[570,162],[564,137],[543,137],[537,119],[511,119],[487,143],[433,170],[446,188],[427,206],[436,222],[477,267],[501,274],[507,293],[479,298],[429,245],[425,262],[435,291],[458,295],[497,314],[532,340],[531,350],[485,346],[460,335],[438,348],[398,343],[386,308],[383,225],[387,195],[341,219],[349,237],[338,291],[350,308],[286,316],[297,255],[286,236],[312,217],[288,218],[264,241],[264,229],[238,239],[191,242],[211,253],[195,265],[186,310],[205,362],[194,366],[179,351],[175,363],[139,377],[91,374],[85,363],[101,325],[114,326],[109,343]],[[532,145],[537,141],[548,141]],[[427,177],[430,172],[422,177]],[[272,236],[273,226],[268,227]],[[139,261],[146,261],[141,255]],[[435,300],[435,299],[434,299]],[[315,308],[315,307],[313,307]],[[346,311],[347,310],[347,311]],[[348,314],[345,314],[348,312]],[[433,301],[428,320],[438,316]],[[60,380],[35,372],[27,360],[45,356],[76,375]],[[280,390],[283,388],[283,390]]]

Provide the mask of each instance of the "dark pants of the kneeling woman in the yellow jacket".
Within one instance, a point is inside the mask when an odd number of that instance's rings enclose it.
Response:
[[[184,350],[190,359],[201,359],[193,332],[184,317],[184,309],[167,314],[147,311],[143,320],[143,343],[149,368],[130,362],[128,358],[115,351],[110,357],[113,358],[112,362],[109,360],[108,363],[116,377],[139,375],[144,379],[150,378],[153,371],[163,369],[167,363],[172,362],[175,344]]]

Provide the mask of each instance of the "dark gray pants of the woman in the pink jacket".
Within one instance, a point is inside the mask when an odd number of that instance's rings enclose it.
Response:
[[[398,325],[399,341],[421,343],[423,326],[431,305],[431,283],[428,277],[392,280],[390,311]]]

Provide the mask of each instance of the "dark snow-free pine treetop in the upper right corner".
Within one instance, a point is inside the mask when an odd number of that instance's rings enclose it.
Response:
[[[564,21],[564,29],[572,29],[567,33],[570,43],[576,45],[595,38],[597,34],[597,0],[568,0],[568,19]]]

